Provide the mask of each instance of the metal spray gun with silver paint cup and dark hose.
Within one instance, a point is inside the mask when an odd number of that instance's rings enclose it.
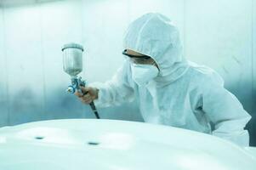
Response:
[[[68,43],[62,47],[63,52],[63,70],[71,76],[71,85],[66,89],[67,92],[74,94],[77,91],[82,94],[80,87],[85,87],[86,82],[82,81],[82,77],[77,75],[82,72],[82,45],[77,43]],[[83,93],[83,95],[88,92]],[[97,119],[100,119],[98,111],[94,105],[94,101],[90,103],[92,110],[94,111]]]

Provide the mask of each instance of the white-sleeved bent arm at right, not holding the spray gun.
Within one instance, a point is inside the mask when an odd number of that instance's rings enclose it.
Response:
[[[213,135],[247,146],[249,135],[244,127],[251,116],[243,109],[236,96],[215,80],[206,80],[202,92],[202,110],[214,124]]]

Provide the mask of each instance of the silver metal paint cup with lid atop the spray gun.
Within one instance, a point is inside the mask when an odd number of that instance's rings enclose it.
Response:
[[[82,45],[68,43],[62,47],[63,70],[71,77],[77,77],[82,72]]]

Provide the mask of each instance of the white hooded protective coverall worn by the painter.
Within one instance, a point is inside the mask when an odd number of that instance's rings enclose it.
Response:
[[[140,87],[132,79],[130,61],[125,60],[110,81],[93,83],[99,88],[96,106],[120,105],[137,99],[145,122],[212,133],[248,145],[244,127],[251,116],[224,88],[218,73],[185,59],[179,31],[167,17],[151,13],[134,20],[125,34],[124,48],[155,59],[159,75]]]

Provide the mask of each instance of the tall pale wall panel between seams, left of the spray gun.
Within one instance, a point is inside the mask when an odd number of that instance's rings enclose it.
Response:
[[[10,125],[36,121],[43,116],[43,69],[37,10],[36,6],[4,8]]]

